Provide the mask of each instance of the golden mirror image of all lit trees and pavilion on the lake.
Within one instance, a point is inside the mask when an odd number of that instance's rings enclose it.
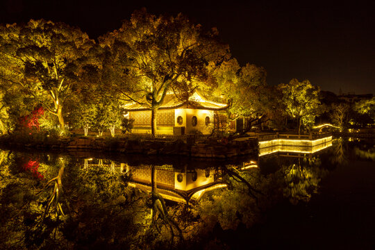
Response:
[[[354,148],[373,159],[374,147]],[[326,163],[349,157],[344,141],[327,149],[210,167],[1,151],[0,242],[9,249],[193,248],[217,228],[262,222],[282,201],[310,201],[329,174]]]

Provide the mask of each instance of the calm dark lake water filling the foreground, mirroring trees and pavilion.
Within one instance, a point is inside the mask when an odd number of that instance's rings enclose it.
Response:
[[[0,249],[375,249],[374,142],[328,146],[232,161],[3,150]]]

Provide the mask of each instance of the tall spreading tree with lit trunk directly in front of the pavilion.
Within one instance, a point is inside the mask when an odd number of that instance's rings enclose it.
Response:
[[[151,108],[153,135],[156,112],[166,94],[206,83],[208,67],[229,57],[228,46],[218,42],[215,28],[203,32],[200,25],[193,25],[181,14],[156,17],[145,9],[133,12],[130,21],[99,40],[114,58],[110,72],[128,80],[120,84],[112,81],[110,88],[121,92],[124,99]]]

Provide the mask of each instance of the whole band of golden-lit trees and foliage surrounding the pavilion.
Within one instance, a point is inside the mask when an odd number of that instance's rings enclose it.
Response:
[[[243,119],[243,133],[259,124],[282,130],[290,127],[288,118],[301,133],[322,113],[342,128],[374,121],[374,98],[326,104],[308,80],[267,85],[266,70],[240,66],[216,28],[206,30],[181,14],[136,10],[99,42],[79,28],[43,19],[0,25],[0,56],[3,134],[22,127],[20,119],[42,107],[40,128],[60,133],[79,128],[85,135],[89,129],[99,135],[109,129],[114,136],[122,124],[122,107],[129,103],[151,109],[154,134],[165,96],[187,100],[197,89],[208,99],[228,103],[221,128]]]

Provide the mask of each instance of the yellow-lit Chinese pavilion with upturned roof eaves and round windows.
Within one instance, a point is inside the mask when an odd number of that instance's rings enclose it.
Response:
[[[140,103],[129,103],[124,107],[129,119],[134,119],[133,133],[151,133],[151,108]],[[209,101],[195,91],[187,101],[181,101],[175,94],[167,94],[156,113],[156,133],[183,135],[199,131],[209,134],[214,126],[219,126],[226,103]]]

